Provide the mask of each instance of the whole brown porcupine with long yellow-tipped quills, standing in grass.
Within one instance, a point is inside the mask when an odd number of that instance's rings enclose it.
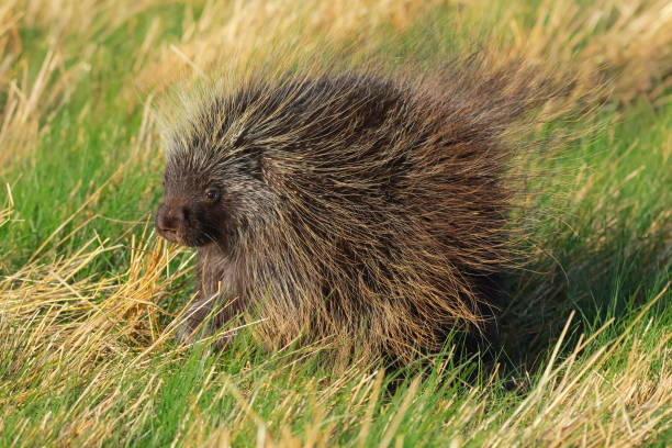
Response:
[[[478,58],[477,58],[478,59]],[[178,337],[255,318],[275,344],[410,359],[494,320],[512,258],[507,137],[529,70],[327,69],[211,89],[165,133],[158,233],[197,247]],[[251,317],[254,316],[254,317]],[[489,337],[489,336],[485,336]]]

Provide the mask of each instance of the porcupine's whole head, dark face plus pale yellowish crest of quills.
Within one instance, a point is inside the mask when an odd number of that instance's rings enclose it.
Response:
[[[272,206],[262,176],[262,149],[248,138],[249,94],[213,99],[165,135],[164,200],[158,233],[184,246],[235,250]]]

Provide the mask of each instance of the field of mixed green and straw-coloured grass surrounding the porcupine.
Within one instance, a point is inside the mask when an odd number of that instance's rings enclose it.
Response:
[[[153,232],[157,110],[326,44],[427,69],[483,47],[574,78],[558,110],[580,119],[535,131],[575,137],[528,160],[553,175],[531,182],[494,363],[459,340],[401,370],[246,332],[176,345],[193,253]],[[671,100],[667,0],[3,0],[0,446],[671,446]]]

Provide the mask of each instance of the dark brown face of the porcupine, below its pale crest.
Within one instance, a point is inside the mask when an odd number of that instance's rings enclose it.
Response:
[[[184,246],[214,244],[231,251],[265,221],[272,201],[260,156],[226,148],[178,148],[168,154],[164,200],[155,225],[166,239]],[[197,157],[198,155],[198,157]]]

